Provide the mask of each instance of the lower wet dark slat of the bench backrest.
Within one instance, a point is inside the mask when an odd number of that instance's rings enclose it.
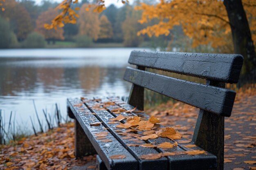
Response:
[[[183,103],[229,117],[236,92],[205,84],[189,82],[138,69],[126,68],[124,79]]]

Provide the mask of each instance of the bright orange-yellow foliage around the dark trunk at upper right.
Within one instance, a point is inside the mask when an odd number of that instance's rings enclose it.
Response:
[[[256,10],[253,0],[243,0],[249,20],[252,37],[256,42]],[[192,47],[210,44],[213,48],[227,44],[227,36],[231,29],[227,11],[220,0],[161,0],[156,5],[141,3],[136,7],[142,10],[139,23],[147,23],[153,19],[159,22],[147,26],[137,34],[168,35],[173,26],[181,25],[183,32],[193,38]]]

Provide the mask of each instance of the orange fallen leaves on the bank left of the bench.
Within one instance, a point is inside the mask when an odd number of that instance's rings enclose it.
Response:
[[[74,123],[1,146],[0,169],[67,170],[83,166],[93,156],[75,159]]]

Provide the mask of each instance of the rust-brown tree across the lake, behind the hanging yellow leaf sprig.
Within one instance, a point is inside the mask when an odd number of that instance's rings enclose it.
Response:
[[[36,31],[44,35],[48,44],[50,41],[55,43],[56,40],[64,40],[63,28],[58,27],[57,29],[45,29],[44,27],[44,24],[50,23],[56,15],[58,15],[58,11],[49,8],[48,11],[41,13],[36,20]]]

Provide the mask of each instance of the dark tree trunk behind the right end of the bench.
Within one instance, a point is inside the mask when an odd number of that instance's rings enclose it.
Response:
[[[256,68],[256,54],[242,0],[224,0],[224,5],[229,17],[234,52],[244,57],[242,73],[249,73]]]

